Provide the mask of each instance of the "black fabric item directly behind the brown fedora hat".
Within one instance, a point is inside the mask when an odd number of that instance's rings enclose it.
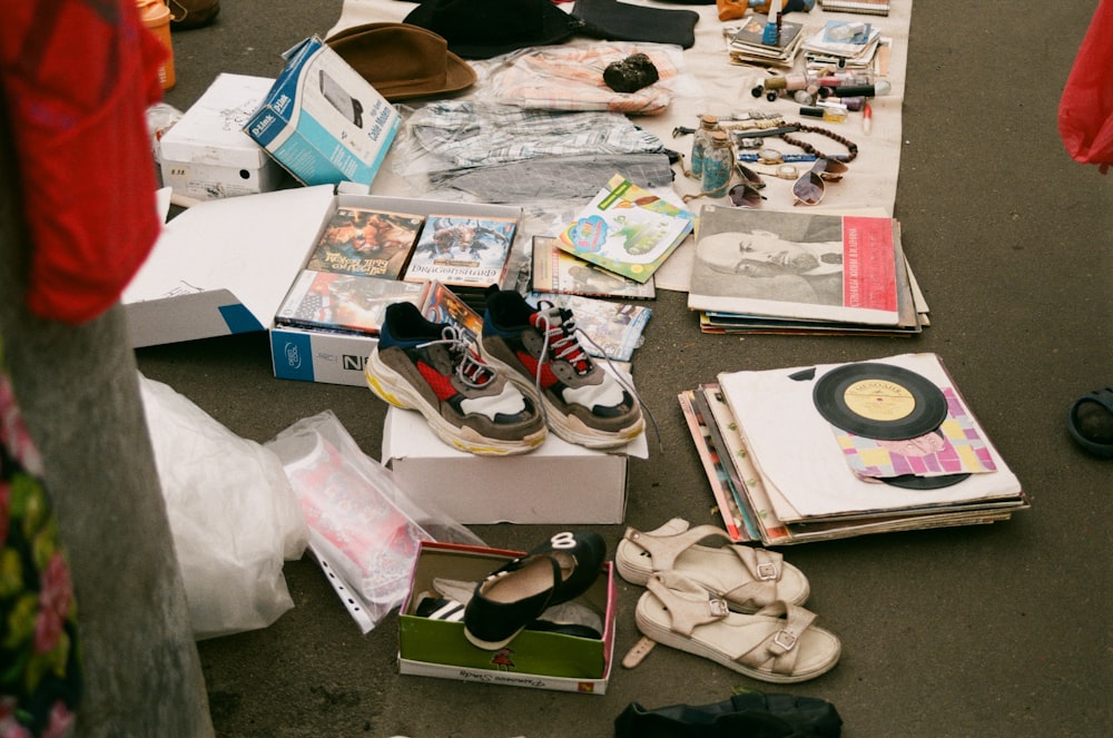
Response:
[[[560,43],[580,27],[551,0],[425,0],[403,22],[437,33],[464,59]]]

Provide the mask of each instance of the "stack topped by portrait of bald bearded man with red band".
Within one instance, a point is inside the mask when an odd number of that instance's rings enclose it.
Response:
[[[889,217],[705,205],[688,306],[706,333],[914,335],[928,311]]]

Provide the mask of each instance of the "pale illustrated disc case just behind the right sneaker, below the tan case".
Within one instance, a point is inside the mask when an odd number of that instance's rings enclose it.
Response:
[[[530,303],[540,302],[572,311],[575,327],[587,340],[580,345],[592,356],[603,356],[617,362],[629,362],[634,348],[641,345],[641,334],[646,329],[653,311],[644,305],[614,303],[582,295],[556,295],[553,293],[531,293]]]

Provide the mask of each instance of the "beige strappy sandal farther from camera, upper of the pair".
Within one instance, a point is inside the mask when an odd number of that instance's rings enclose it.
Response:
[[[699,545],[709,538],[727,544]],[[802,604],[811,591],[804,572],[780,553],[733,543],[722,529],[690,528],[680,518],[646,533],[628,528],[614,552],[614,563],[631,584],[644,586],[659,571],[681,572],[739,612],[756,612],[778,600]]]

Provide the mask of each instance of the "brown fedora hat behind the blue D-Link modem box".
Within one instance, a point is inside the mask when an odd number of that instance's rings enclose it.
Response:
[[[367,23],[325,40],[390,101],[457,92],[475,83],[475,70],[431,30],[410,23]]]

